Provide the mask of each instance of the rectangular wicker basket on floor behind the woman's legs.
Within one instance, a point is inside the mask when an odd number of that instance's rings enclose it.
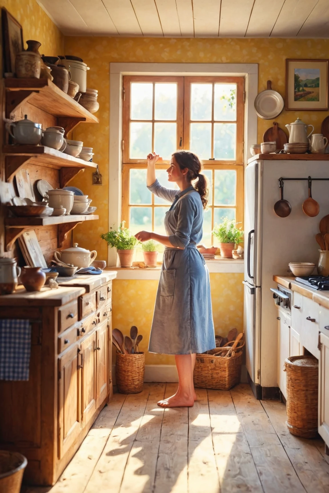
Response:
[[[228,390],[240,382],[242,365],[242,348],[236,348],[234,356],[227,358],[215,356],[223,348],[211,350],[214,354],[197,354],[194,367],[194,386]],[[231,344],[231,343],[228,343]]]

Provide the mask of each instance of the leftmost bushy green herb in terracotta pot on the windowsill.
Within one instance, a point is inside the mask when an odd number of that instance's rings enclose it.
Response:
[[[108,233],[101,235],[101,238],[112,248],[116,248],[121,267],[131,267],[133,265],[135,247],[139,241],[128,228],[124,227],[124,222],[122,221],[119,229],[110,228]]]

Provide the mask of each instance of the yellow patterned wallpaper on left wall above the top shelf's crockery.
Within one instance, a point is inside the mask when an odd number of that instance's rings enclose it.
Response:
[[[0,0],[0,7],[5,7],[21,24],[24,43],[27,39],[39,41],[40,53],[44,55],[54,56],[63,53],[64,36],[36,0]],[[27,48],[26,44],[24,48]],[[2,71],[2,57],[0,70]]]

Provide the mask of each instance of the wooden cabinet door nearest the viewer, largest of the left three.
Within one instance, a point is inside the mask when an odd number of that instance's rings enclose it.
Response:
[[[81,383],[77,344],[58,358],[59,458],[69,450],[81,430]]]

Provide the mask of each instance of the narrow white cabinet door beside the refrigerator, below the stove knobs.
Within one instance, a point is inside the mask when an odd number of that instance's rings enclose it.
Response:
[[[291,316],[278,308],[278,386],[287,399],[285,360],[290,355]]]

